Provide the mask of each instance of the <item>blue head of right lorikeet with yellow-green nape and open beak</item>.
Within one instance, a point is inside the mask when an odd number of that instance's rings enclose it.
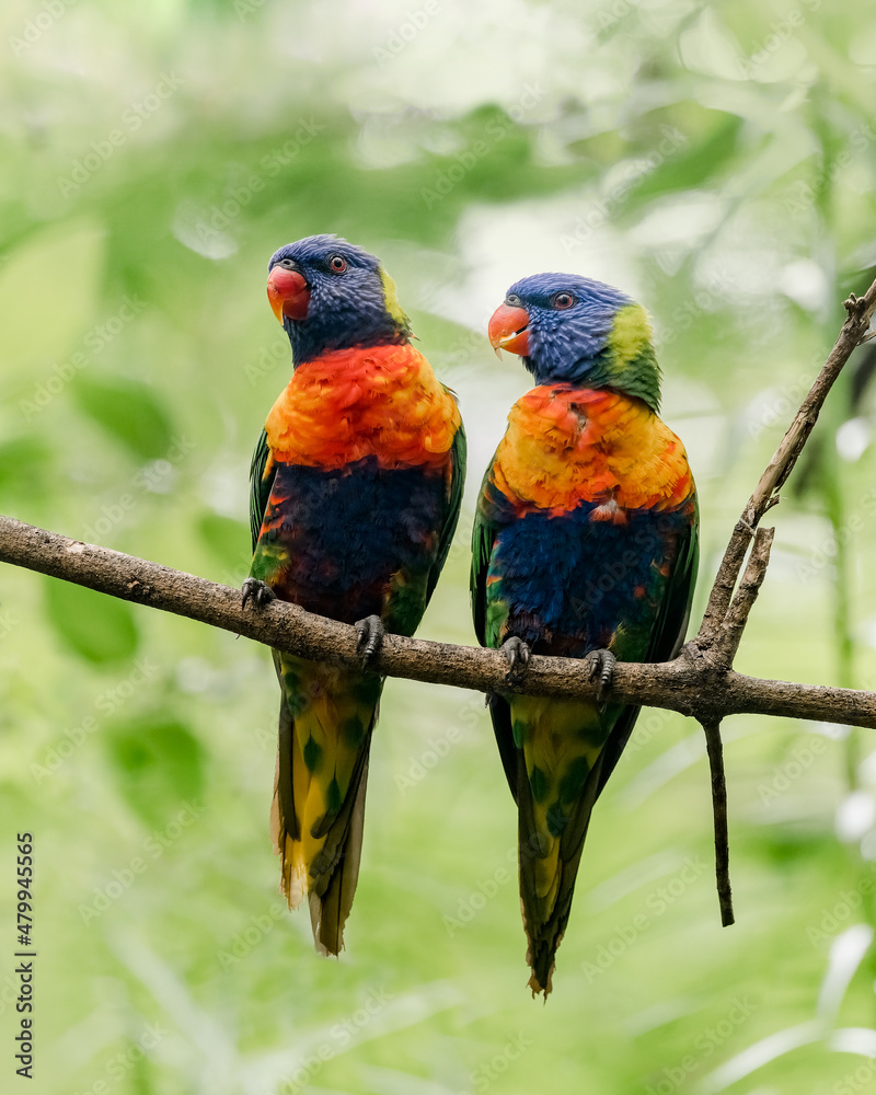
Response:
[[[493,314],[489,341],[519,354],[539,384],[614,388],[658,410],[660,370],[645,309],[601,281],[521,278]]]

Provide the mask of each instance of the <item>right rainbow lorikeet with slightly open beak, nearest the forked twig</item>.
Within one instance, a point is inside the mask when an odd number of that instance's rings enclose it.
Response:
[[[511,407],[473,531],[472,606],[510,673],[530,652],[591,659],[599,701],[489,698],[518,807],[534,993],[551,991],[590,812],[638,707],[604,700],[615,659],[661,661],[683,641],[698,563],[684,447],[657,416],[660,372],[644,309],[588,278],[511,286],[489,341],[537,387]]]

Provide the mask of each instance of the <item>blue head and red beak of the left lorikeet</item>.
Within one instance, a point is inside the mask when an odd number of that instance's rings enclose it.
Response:
[[[336,235],[310,235],[268,263],[267,296],[296,366],[326,350],[406,343],[411,323],[373,255]]]

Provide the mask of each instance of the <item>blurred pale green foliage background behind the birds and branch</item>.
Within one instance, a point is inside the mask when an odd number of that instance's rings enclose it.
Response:
[[[526,388],[485,323],[539,269],[654,315],[702,610],[876,264],[866,8],[10,0],[0,22],[0,511],[239,585],[250,452],[289,371],[265,264],[334,231],[384,260],[469,430],[420,634],[473,641],[471,507]],[[869,371],[858,350],[773,511],[744,671],[876,687]],[[722,930],[701,734],[643,713],[542,1006],[481,698],[388,683],[339,961],[276,892],[276,707],[254,644],[0,567],[4,1088],[27,829],[32,1091],[876,1091],[869,731],[725,723]]]

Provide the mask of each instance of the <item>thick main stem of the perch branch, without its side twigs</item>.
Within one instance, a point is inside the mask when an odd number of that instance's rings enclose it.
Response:
[[[199,620],[291,654],[358,666],[354,627],[273,601],[241,608],[240,590],[132,555],[0,517],[0,562],[76,581],[123,600]],[[573,658],[533,657],[522,680],[506,682],[498,650],[387,635],[374,668],[388,677],[454,684],[481,692],[595,696],[590,666]],[[702,719],[747,712],[876,728],[876,693],[758,680],[715,669],[706,658],[682,656],[664,665],[619,662],[612,698],[666,707]]]

